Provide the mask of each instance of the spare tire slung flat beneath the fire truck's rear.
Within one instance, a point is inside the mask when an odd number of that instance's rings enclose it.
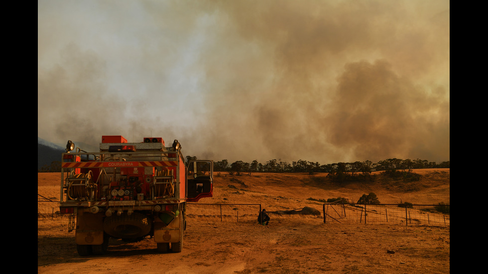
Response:
[[[151,231],[152,222],[144,214],[112,215],[105,218],[104,231],[119,239],[135,239],[146,236]]]

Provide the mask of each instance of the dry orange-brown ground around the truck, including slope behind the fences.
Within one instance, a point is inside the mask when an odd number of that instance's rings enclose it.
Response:
[[[261,203],[268,211],[312,206],[309,197],[374,192],[382,203],[449,203],[450,170],[415,170],[414,183],[327,182],[326,175],[215,175],[205,203]],[[59,174],[38,174],[38,194],[59,199]],[[233,187],[230,187],[230,186]],[[236,188],[238,191],[236,191]],[[80,257],[67,217],[38,217],[38,273],[450,273],[450,226],[323,223],[322,217],[271,215],[268,226],[188,218],[181,253],[159,254],[147,237],[138,243],[111,239],[104,256]]]

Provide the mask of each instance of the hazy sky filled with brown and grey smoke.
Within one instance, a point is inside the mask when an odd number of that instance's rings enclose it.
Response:
[[[37,135],[450,160],[449,0],[38,0]]]

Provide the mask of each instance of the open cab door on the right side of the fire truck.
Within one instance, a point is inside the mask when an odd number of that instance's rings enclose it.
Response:
[[[211,160],[194,160],[188,162],[187,201],[197,202],[213,195],[214,162]]]

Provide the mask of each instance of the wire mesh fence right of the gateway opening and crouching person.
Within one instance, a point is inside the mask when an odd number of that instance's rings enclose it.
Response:
[[[449,212],[449,205],[334,203],[323,205],[324,223],[450,225],[450,214],[442,212]]]

